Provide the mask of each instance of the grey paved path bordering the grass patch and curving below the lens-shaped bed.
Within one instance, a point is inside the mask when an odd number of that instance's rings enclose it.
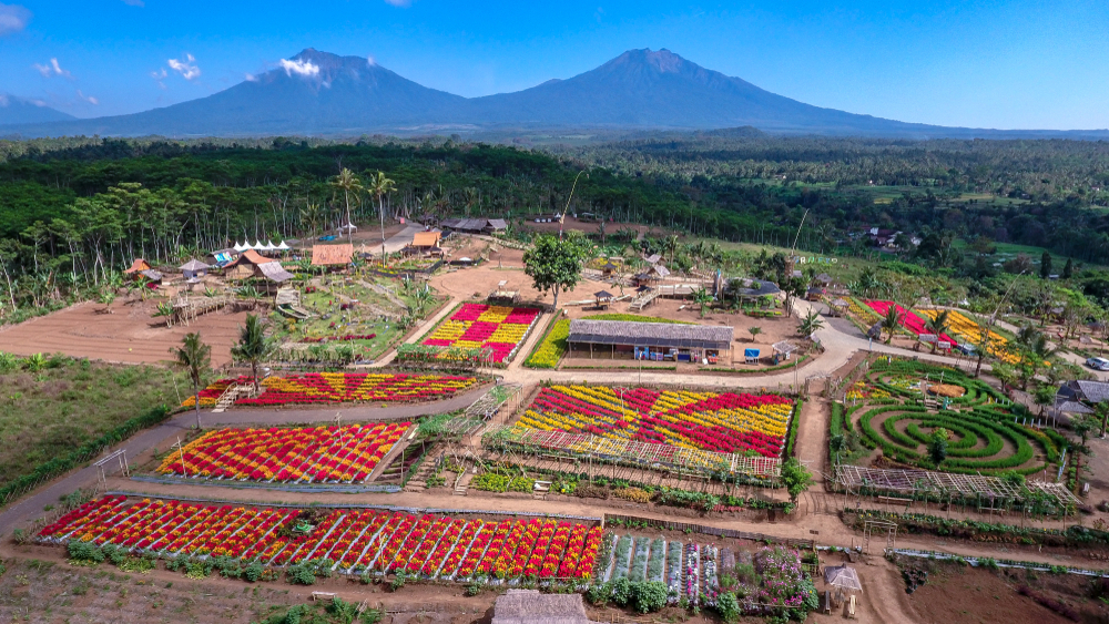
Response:
[[[325,408],[299,408],[299,409],[232,409],[222,413],[212,413],[201,410],[201,423],[207,427],[234,426],[234,424],[258,424],[258,423],[291,423],[291,422],[332,422],[335,413],[340,412],[346,422],[358,422],[366,420],[414,418],[431,413],[444,413],[465,409],[474,401],[478,400],[489,390],[488,386],[472,389],[468,392],[451,397],[446,401],[434,403],[398,403],[390,407],[372,407],[358,405],[336,405]],[[153,429],[140,431],[130,440],[113,447],[109,452],[119,449],[126,449],[129,458],[136,458],[144,451],[153,448],[166,438],[185,432],[196,422],[196,413],[189,410],[166,420]],[[92,466],[82,468],[75,472],[53,481],[50,485],[40,488],[30,497],[19,500],[0,511],[0,532],[7,532],[16,526],[42,515],[42,508],[57,504],[58,500],[80,488],[91,488],[96,483],[96,469]]]

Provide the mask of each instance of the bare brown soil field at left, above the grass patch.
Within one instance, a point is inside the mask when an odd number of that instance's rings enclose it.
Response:
[[[214,311],[201,316],[187,327],[165,327],[151,315],[156,304],[116,300],[112,314],[101,314],[102,304],[79,304],[0,329],[0,351],[18,355],[63,352],[68,356],[125,364],[157,364],[171,359],[170,347],[181,338],[200,331],[212,346],[212,366],[231,364],[231,346],[238,339],[238,327],[247,313]]]

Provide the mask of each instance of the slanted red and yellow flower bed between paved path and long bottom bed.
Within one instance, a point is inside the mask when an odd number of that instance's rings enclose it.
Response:
[[[157,472],[240,481],[360,483],[410,424],[217,429],[166,456]]]

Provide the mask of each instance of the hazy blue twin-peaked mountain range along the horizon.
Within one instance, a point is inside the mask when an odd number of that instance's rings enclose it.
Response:
[[[60,114],[60,113],[59,113]],[[1106,139],[1107,131],[996,131],[904,123],[805,104],[688,61],[630,50],[567,80],[515,93],[461,98],[358,57],[307,49],[278,68],[207,98],[94,120],[40,120],[24,136],[350,135],[511,129],[719,130],[904,137]]]

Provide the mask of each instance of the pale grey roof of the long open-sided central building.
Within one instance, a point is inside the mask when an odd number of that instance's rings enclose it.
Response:
[[[726,349],[732,344],[734,335],[734,329],[726,326],[578,318],[570,321],[569,341],[637,347]]]

